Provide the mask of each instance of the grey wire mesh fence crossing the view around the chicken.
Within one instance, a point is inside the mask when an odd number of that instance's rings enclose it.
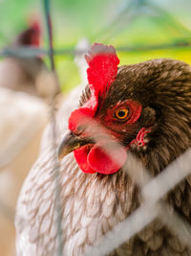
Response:
[[[138,1],[141,3],[141,6],[146,1]],[[132,2],[133,3],[133,2]],[[51,72],[55,72],[53,56],[54,55],[78,55],[81,54],[80,51],[76,51],[74,49],[61,49],[54,50],[53,49],[53,32],[52,32],[52,22],[51,22],[51,14],[50,14],[50,1],[45,0],[45,17],[46,17],[46,25],[48,30],[49,37],[49,49],[40,49],[32,47],[21,47],[21,48],[6,48],[0,52],[1,57],[21,57],[21,58],[30,58],[37,56],[49,56],[51,63]],[[137,3],[138,4],[138,3]],[[129,8],[129,7],[128,7]],[[122,12],[125,12],[124,9]],[[119,13],[119,15],[121,12]],[[118,18],[118,17],[117,17]],[[119,47],[117,51],[124,52],[132,52],[132,51],[145,51],[145,50],[153,50],[153,49],[172,49],[175,47],[188,47],[190,48],[190,41],[185,40],[181,42],[172,42],[170,44],[163,45],[153,45],[153,46],[139,46],[139,47]],[[88,49],[87,49],[88,50]],[[56,74],[54,73],[56,76]],[[57,136],[56,136],[56,124],[55,124],[55,112],[54,112],[54,95],[51,96],[50,101],[51,108],[51,124],[53,128],[52,132],[52,144],[54,151],[54,159],[53,159],[53,173],[55,180],[55,211],[57,213],[57,239],[58,239],[58,249],[56,255],[62,255],[62,250],[64,247],[63,244],[63,234],[61,229],[61,221],[62,221],[62,213],[60,207],[60,182],[59,182],[59,162],[57,161]],[[89,122],[90,120],[86,120]],[[110,141],[110,135],[102,128],[100,125],[96,124],[91,120],[91,125],[89,132],[91,135],[94,135],[97,130],[104,134],[107,137],[107,140]],[[117,143],[115,144],[118,147]],[[119,161],[114,154],[111,153],[110,149],[105,148],[104,151],[107,152],[115,161]],[[123,172],[127,172],[128,175],[134,178],[138,187],[141,191],[142,198],[144,201],[138,207],[138,209],[129,216],[125,221],[122,221],[115,226],[115,228],[109,231],[100,241],[99,244],[90,248],[89,251],[86,252],[86,255],[105,255],[113,251],[117,246],[122,244],[123,242],[129,240],[133,236],[135,236],[140,230],[142,230],[147,224],[154,221],[158,218],[164,225],[168,226],[173,233],[175,233],[182,244],[185,244],[191,249],[191,226],[188,222],[183,221],[180,218],[180,215],[176,211],[172,211],[170,205],[166,203],[163,199],[169,191],[171,191],[175,186],[180,184],[180,182],[191,175],[191,151],[188,150],[184,152],[176,161],[174,161],[171,165],[169,165],[165,170],[161,172],[157,177],[152,177],[149,175],[149,170],[145,170],[144,166],[138,162],[138,160],[129,153],[128,155],[129,161],[123,167]],[[128,166],[131,164],[131,166]],[[152,193],[151,193],[152,192]],[[178,228],[179,227],[179,228]]]

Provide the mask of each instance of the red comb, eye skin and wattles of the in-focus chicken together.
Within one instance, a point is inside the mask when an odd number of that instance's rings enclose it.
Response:
[[[102,50],[99,53],[97,52],[98,48]],[[105,95],[117,76],[117,64],[119,60],[112,46],[95,44],[89,54],[89,56],[86,56],[86,59],[89,64],[87,75],[90,83],[91,98],[85,105],[75,109],[69,118],[69,129],[72,130],[74,134],[77,133],[79,125],[83,125],[84,117],[95,117],[98,106],[98,96],[101,95],[103,97]],[[124,106],[129,109],[126,123],[134,124],[137,122],[141,113],[141,105],[135,101],[129,100],[108,110],[104,120],[108,127],[116,124],[114,122],[115,110]],[[120,123],[115,126],[116,130],[121,129]],[[113,132],[112,135],[117,138],[117,131]],[[104,150],[104,148],[107,148],[107,143],[106,141],[98,141],[95,145],[83,146],[74,151],[75,160],[82,172],[87,174],[99,173],[111,175],[122,168],[127,158],[125,148],[122,146],[110,147],[109,154],[107,154]],[[112,156],[115,156],[115,159]]]

